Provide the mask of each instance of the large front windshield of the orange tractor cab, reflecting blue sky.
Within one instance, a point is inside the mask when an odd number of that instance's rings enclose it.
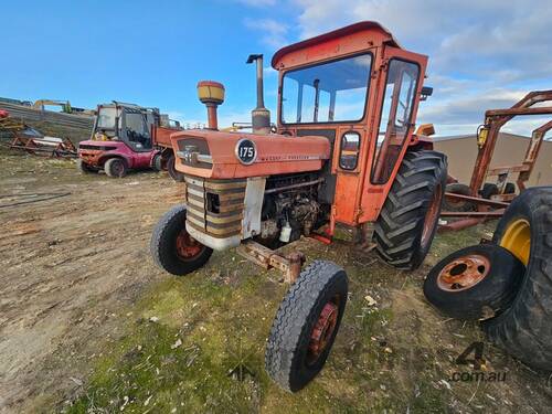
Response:
[[[359,121],[364,115],[372,55],[289,71],[284,75],[282,123]]]

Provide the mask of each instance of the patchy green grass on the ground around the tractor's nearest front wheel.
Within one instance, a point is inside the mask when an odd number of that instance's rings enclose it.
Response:
[[[473,244],[485,229],[439,236],[433,254]],[[424,272],[401,273],[373,255],[354,256],[344,243],[310,240],[296,248],[308,259],[343,265],[350,298],[338,340],[321,374],[289,394],[264,371],[264,344],[287,287],[234,252],[214,254],[208,266],[182,278],[167,276],[128,309],[125,336],[107,343],[94,373],[68,413],[439,413],[453,394],[439,385],[448,362],[473,339],[476,326],[442,318],[423,302]],[[370,295],[375,305],[370,306]],[[131,312],[131,314],[130,314]],[[153,320],[153,321],[152,321]],[[450,337],[461,332],[463,339]],[[453,344],[449,344],[449,343]],[[458,342],[458,343],[456,343]],[[176,344],[179,343],[178,347]],[[236,367],[252,375],[230,375]],[[459,385],[456,399],[469,399]],[[475,399],[474,401],[477,401]]]

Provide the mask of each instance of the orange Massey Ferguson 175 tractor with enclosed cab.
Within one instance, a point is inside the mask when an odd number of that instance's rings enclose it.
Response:
[[[375,22],[361,22],[279,50],[276,132],[256,62],[252,134],[220,131],[224,87],[200,82],[209,128],[171,135],[184,174],[182,205],[156,226],[151,253],[168,273],[185,275],[213,251],[237,247],[291,284],[266,346],[266,370],[284,389],[304,388],[321,370],[343,316],[348,278],[331,262],[301,272],[300,253],[278,247],[312,236],[330,244],[337,225],[354,230],[362,252],[414,269],[432,244],[447,180],[447,160],[414,132],[427,56],[402,49]],[[425,135],[424,135],[425,132]]]

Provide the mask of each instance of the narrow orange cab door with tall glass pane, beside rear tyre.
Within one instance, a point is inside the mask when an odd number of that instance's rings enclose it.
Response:
[[[379,63],[360,223],[378,219],[412,139],[427,56],[385,46]]]

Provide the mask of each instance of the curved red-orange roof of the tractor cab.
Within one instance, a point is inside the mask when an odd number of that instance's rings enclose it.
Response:
[[[381,25],[380,23],[374,22],[374,21],[362,21],[362,22],[350,24],[350,25],[347,25],[344,28],[333,30],[331,32],[323,33],[323,34],[320,34],[318,36],[310,38],[310,39],[290,44],[288,46],[282,47],[279,51],[277,51],[274,54],[273,60],[272,60],[272,66],[275,70],[277,70],[278,62],[280,62],[283,57],[290,54],[291,52],[300,51],[304,49],[309,49],[309,47],[319,45],[321,43],[330,42],[330,41],[339,39],[339,38],[352,35],[352,34],[358,33],[358,32],[367,32],[367,31],[372,31],[372,32],[375,32],[380,35],[383,35],[383,43],[390,44],[393,47],[401,49],[401,45],[399,44],[396,39],[393,36],[393,34],[388,29],[385,29],[383,25]]]

